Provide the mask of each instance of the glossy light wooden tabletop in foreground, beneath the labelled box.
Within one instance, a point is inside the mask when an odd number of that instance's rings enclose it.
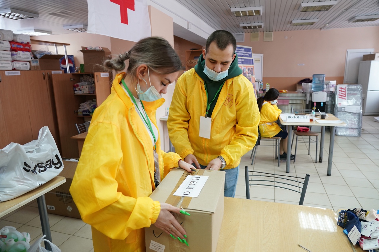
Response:
[[[225,197],[216,251],[353,251],[337,219],[327,208]]]

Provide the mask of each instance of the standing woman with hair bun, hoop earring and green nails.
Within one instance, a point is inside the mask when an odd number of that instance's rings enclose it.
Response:
[[[179,56],[167,40],[148,37],[104,64],[122,71],[126,60],[126,73],[116,75],[111,94],[94,112],[70,187],[81,218],[92,226],[94,250],[101,252],[145,251],[144,227],[151,224],[175,242],[185,239],[172,215],[180,209],[149,196],[171,168],[195,171],[160,149],[155,118],[161,94],[182,69]]]

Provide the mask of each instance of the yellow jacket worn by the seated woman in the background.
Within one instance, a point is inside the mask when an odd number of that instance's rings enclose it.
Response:
[[[278,120],[280,113],[282,110],[278,109],[276,104],[263,103],[259,121],[259,131],[262,137],[273,137],[282,130],[277,123],[273,123]]]

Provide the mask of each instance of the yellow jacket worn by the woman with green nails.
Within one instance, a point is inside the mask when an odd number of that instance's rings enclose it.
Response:
[[[155,223],[160,203],[149,198],[154,185],[151,138],[116,76],[111,94],[95,110],[70,193],[81,218],[92,226],[95,251],[145,251],[144,227]],[[157,127],[164,99],[143,102]],[[158,127],[157,127],[158,128]],[[178,167],[178,154],[160,149],[161,179]]]

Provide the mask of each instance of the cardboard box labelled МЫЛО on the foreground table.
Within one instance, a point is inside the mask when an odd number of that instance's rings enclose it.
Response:
[[[196,176],[208,176],[199,196],[196,198],[174,196],[175,191],[188,175],[193,174],[182,169],[173,169],[150,197],[155,201],[166,202],[175,207],[183,208],[191,214],[191,216],[175,214],[177,221],[186,230],[186,241],[189,247],[180,243],[179,240],[172,239],[155,225],[151,225],[145,228],[147,252],[216,251],[224,215],[225,173],[223,171],[199,170]]]

